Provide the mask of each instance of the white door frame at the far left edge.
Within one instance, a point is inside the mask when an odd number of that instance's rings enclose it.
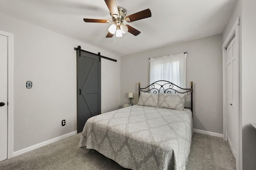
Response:
[[[14,53],[13,53],[13,34],[0,30],[0,35],[7,37],[8,41],[8,147],[7,158],[12,158],[13,154],[13,69],[14,69]]]

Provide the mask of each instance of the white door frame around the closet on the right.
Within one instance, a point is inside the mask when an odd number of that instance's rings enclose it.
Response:
[[[228,141],[228,113],[227,113],[227,47],[232,39],[236,40],[236,50],[238,54],[238,63],[239,63],[239,75],[238,75],[238,113],[239,113],[239,125],[238,125],[238,150],[236,158],[236,169],[242,170],[242,107],[241,107],[241,57],[240,57],[240,17],[237,18],[234,23],[228,37],[222,45],[222,63],[223,63],[223,140]]]

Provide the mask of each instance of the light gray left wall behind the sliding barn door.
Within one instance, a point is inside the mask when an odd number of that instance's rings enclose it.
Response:
[[[0,30],[14,34],[14,152],[76,131],[78,45],[118,60],[102,59],[102,111],[118,109],[120,57],[3,13],[0,23]],[[28,80],[31,89],[26,88]]]

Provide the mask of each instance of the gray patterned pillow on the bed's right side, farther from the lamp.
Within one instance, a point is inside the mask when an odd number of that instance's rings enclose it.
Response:
[[[158,94],[158,107],[184,110],[186,94]]]

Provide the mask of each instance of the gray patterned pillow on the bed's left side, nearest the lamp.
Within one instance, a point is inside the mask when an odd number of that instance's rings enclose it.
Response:
[[[158,107],[158,94],[140,92],[138,105]]]

